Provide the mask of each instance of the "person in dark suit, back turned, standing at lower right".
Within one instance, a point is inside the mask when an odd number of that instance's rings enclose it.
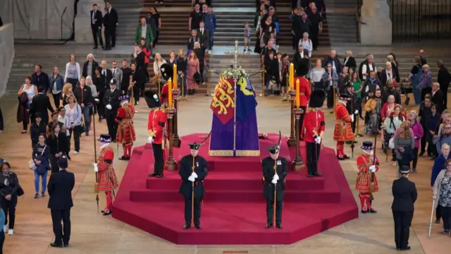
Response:
[[[404,165],[400,168],[400,179],[393,181],[393,221],[395,222],[396,250],[410,250],[409,231],[414,217],[415,183],[409,181],[410,168]]]

